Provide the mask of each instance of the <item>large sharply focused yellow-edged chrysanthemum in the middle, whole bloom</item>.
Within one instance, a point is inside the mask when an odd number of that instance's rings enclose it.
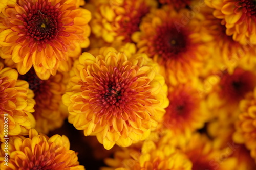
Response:
[[[103,47],[96,57],[83,53],[74,69],[62,97],[69,122],[106,149],[144,140],[165,113],[167,86],[145,54]]]

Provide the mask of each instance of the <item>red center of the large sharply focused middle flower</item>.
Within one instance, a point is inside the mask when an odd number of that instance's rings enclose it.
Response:
[[[100,113],[122,112],[123,110],[130,110],[129,105],[133,104],[135,101],[135,94],[137,92],[130,88],[132,83],[137,79],[125,78],[122,76],[122,70],[118,70],[117,67],[113,68],[113,73],[107,72],[105,77],[98,77],[99,86],[94,89],[96,94],[94,97],[97,100],[89,101],[90,104],[96,103],[100,106]],[[97,80],[96,80],[97,81]],[[98,112],[96,111],[96,112]]]

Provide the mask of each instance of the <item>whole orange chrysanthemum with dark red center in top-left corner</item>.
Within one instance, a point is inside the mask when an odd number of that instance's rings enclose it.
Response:
[[[89,45],[91,13],[78,2],[18,0],[7,6],[0,16],[0,56],[11,58],[22,75],[32,66],[41,79],[55,75],[61,61]]]

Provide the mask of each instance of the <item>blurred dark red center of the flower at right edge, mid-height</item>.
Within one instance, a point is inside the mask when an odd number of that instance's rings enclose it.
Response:
[[[233,75],[223,75],[220,96],[228,101],[238,102],[247,92],[252,91],[255,85],[255,75],[252,72],[236,69]]]

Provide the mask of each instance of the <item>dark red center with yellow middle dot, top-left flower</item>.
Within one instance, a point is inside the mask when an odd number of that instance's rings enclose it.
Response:
[[[20,38],[17,39],[17,43],[23,42],[29,39],[29,43],[22,44],[23,47],[27,46],[30,48],[30,52],[33,53],[37,46],[38,51],[46,48],[46,44],[56,46],[54,41],[57,41],[62,45],[63,50],[67,48],[63,44],[63,40],[59,36],[70,36],[69,33],[65,32],[64,24],[61,22],[62,12],[59,10],[60,3],[55,6],[52,5],[48,0],[38,0],[38,2],[26,3],[22,7],[27,12],[26,14],[17,14],[17,18],[23,21],[23,25],[18,25],[22,32],[18,33]],[[73,21],[68,25],[73,25]],[[67,25],[67,24],[66,24]]]

